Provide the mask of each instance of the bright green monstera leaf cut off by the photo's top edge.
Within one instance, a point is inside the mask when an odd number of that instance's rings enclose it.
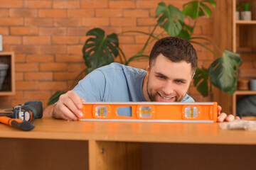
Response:
[[[215,7],[216,2],[214,0],[191,1],[183,5],[182,13],[184,16],[190,16],[193,19],[196,19],[199,16],[207,16],[209,18],[212,11],[210,11],[210,8],[204,4],[206,2]]]

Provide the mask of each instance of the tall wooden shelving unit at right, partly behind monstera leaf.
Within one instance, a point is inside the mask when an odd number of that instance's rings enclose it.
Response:
[[[255,55],[256,60],[256,1],[247,0],[252,4],[252,21],[241,21],[235,18],[236,4],[243,0],[217,0],[215,8],[215,42],[220,50],[232,50],[243,54]],[[256,75],[255,75],[256,77]],[[240,77],[248,78],[248,77]],[[223,107],[223,111],[236,115],[236,104],[243,96],[256,95],[256,91],[235,91],[233,96],[214,89],[213,100]]]

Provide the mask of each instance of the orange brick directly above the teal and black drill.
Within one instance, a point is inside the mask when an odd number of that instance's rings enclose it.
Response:
[[[38,98],[40,99],[48,99],[52,94],[50,91],[24,91],[24,97],[23,98],[29,98],[30,100],[36,100]]]

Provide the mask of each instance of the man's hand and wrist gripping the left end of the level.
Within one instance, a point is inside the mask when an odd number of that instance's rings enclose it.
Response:
[[[85,101],[74,91],[62,94],[57,103],[48,106],[43,111],[43,117],[53,117],[65,120],[78,120],[82,117],[82,102]]]

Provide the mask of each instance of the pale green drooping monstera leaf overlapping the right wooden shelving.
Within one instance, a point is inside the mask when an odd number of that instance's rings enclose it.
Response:
[[[234,91],[238,81],[238,67],[241,64],[240,55],[225,50],[223,57],[210,64],[209,74],[213,85],[224,92]]]

